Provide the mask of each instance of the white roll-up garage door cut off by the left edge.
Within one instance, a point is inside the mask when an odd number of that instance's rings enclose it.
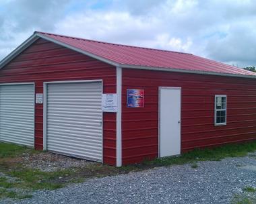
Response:
[[[34,85],[0,85],[0,140],[34,146]]]

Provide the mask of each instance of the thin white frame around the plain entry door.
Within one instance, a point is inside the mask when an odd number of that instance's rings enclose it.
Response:
[[[161,100],[161,89],[178,89],[181,91],[181,87],[158,87],[158,158],[160,158],[160,100]],[[181,97],[181,96],[180,96]],[[181,101],[181,98],[180,98]],[[181,103],[182,104],[182,103]],[[180,109],[180,154],[181,155],[181,109]]]

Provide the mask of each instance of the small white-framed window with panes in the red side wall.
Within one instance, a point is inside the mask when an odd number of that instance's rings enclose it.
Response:
[[[226,95],[215,95],[215,125],[226,125]]]

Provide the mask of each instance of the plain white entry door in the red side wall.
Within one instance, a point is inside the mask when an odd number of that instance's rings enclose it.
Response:
[[[159,156],[181,154],[181,88],[159,88]]]

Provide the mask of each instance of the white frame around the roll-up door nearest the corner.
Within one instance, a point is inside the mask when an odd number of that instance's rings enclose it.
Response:
[[[103,80],[74,80],[74,81],[47,81],[43,85],[43,150],[47,150],[47,85],[57,84],[57,83],[101,83],[101,94],[103,93]],[[101,111],[101,131],[102,131],[102,141],[101,141],[101,155],[103,163],[103,111]]]

